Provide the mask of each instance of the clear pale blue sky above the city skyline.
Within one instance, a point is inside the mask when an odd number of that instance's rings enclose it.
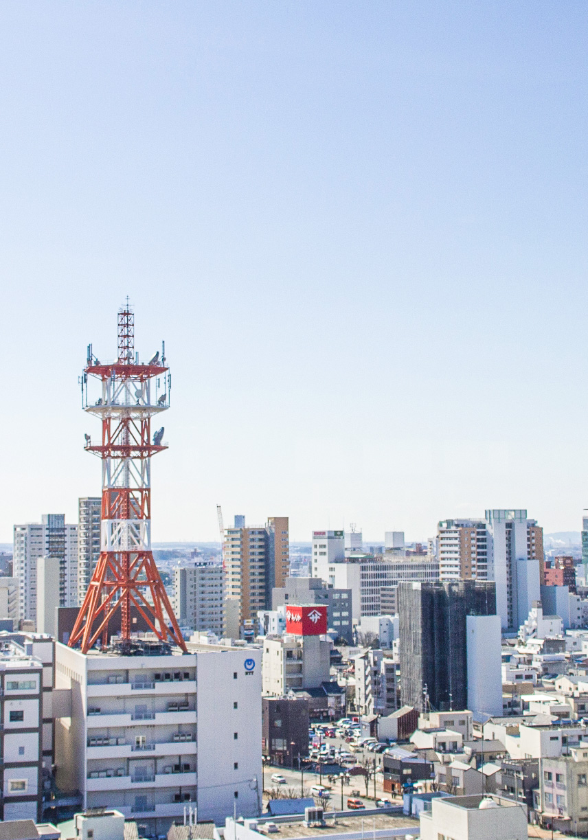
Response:
[[[77,376],[165,339],[153,537],[588,507],[588,8],[0,4],[0,541],[99,495]]]

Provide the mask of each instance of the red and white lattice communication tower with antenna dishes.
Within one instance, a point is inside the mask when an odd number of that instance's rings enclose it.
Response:
[[[94,377],[94,379],[92,379]],[[88,382],[101,391],[88,400]],[[87,653],[108,643],[108,622],[120,610],[121,643],[131,643],[131,608],[161,642],[186,651],[151,553],[151,455],[167,449],[163,428],[151,436],[151,418],[170,405],[165,344],[147,363],[134,352],[134,313],[118,312],[118,359],[102,364],[88,346],[81,377],[84,409],[102,420],[102,442],[86,435],[86,449],[102,459],[100,559],[76,618],[69,645]],[[117,621],[118,624],[118,621]]]

